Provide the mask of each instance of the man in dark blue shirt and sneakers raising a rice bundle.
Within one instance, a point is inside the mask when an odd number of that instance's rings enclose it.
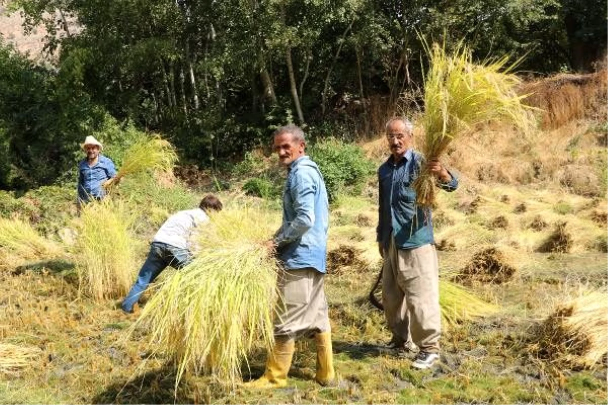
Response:
[[[458,180],[435,158],[424,162],[413,149],[410,121],[386,124],[390,157],[378,169],[376,229],[382,265],[382,304],[393,347],[417,345],[412,367],[427,369],[439,359],[441,310],[439,266],[430,208],[416,205],[413,181],[427,165],[439,188],[454,191]],[[411,336],[411,341],[410,341]]]

